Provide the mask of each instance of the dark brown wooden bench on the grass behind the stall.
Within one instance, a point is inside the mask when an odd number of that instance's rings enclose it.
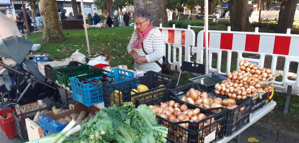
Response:
[[[62,30],[84,29],[83,24],[83,19],[62,20]]]

